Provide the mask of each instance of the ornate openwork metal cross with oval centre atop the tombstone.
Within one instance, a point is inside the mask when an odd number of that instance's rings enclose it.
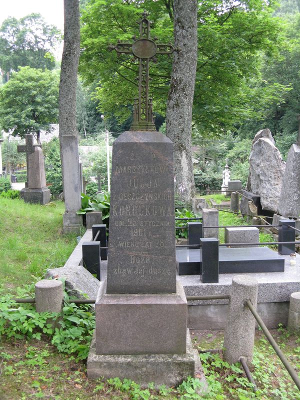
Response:
[[[121,53],[133,54],[139,60],[138,98],[134,99],[133,122],[130,130],[156,130],[153,122],[152,99],[148,97],[149,87],[149,60],[157,61],[156,54],[172,54],[176,48],[172,44],[157,44],[156,37],[150,38],[150,21],[148,13],[143,12],[139,22],[139,37],[133,43],[118,43],[109,45],[109,51],[115,50],[117,55]]]

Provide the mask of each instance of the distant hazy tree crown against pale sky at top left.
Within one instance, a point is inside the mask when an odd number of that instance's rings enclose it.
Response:
[[[3,78],[19,66],[48,68],[55,66],[53,47],[60,41],[60,31],[48,25],[38,13],[23,18],[6,18],[0,27],[0,68]]]

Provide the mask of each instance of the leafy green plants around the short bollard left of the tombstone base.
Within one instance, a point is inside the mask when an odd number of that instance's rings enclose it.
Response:
[[[34,284],[29,286],[31,296],[33,288]],[[18,289],[18,294],[28,296],[24,289]],[[49,323],[51,320],[55,321],[54,326]],[[19,305],[12,295],[0,295],[0,338],[40,340],[41,335],[46,335],[59,352],[74,353],[79,360],[87,357],[94,328],[95,317],[90,307],[72,303],[66,292],[61,313],[38,313],[32,304]]]

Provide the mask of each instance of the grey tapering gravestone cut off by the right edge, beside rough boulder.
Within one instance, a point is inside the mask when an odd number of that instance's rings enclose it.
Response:
[[[285,218],[297,218],[300,214],[300,115],[298,137],[288,151],[283,183],[278,202],[278,214]]]

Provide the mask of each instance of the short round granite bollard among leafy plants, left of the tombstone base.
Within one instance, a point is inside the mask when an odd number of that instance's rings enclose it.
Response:
[[[62,300],[61,280],[42,279],[35,283],[35,308],[37,312],[60,312]]]

